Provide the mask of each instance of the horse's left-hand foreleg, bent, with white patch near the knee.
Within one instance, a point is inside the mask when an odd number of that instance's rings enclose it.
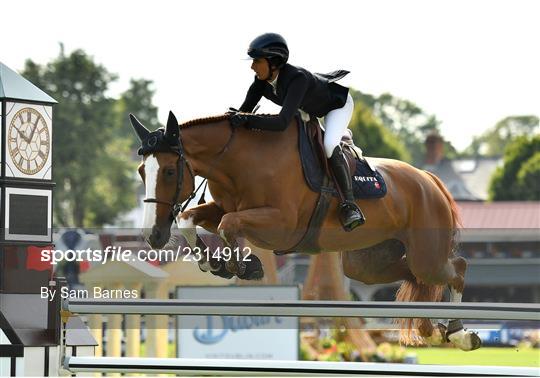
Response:
[[[210,271],[217,276],[231,278],[233,274],[225,269],[224,262],[212,257],[213,253],[205,252],[207,246],[197,234],[197,226],[201,226],[212,233],[217,233],[217,227],[223,214],[223,209],[212,201],[178,214],[176,223],[180,234],[184,236],[189,247],[191,249],[198,248],[201,251],[201,259],[198,261],[199,268],[203,272]]]

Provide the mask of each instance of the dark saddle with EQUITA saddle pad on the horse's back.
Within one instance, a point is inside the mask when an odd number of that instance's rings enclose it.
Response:
[[[317,142],[314,140],[310,127],[320,127],[315,119],[308,123],[298,117],[298,149],[300,151],[300,160],[304,171],[304,178],[309,188],[317,193],[321,192],[326,168],[321,163],[321,158],[317,153]],[[322,130],[321,130],[322,131]],[[353,193],[356,199],[381,198],[386,194],[386,183],[384,178],[376,169],[372,169],[364,157],[358,156],[351,146],[352,140],[346,138],[341,142],[343,152],[348,155],[349,163],[355,162],[356,168],[352,176]],[[323,153],[324,154],[324,153]],[[338,196],[335,189],[333,196]]]

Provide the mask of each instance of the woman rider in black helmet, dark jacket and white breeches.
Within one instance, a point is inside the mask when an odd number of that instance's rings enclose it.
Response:
[[[354,103],[349,89],[335,81],[348,71],[319,75],[288,64],[287,42],[276,33],[255,38],[249,45],[248,55],[253,59],[251,69],[255,71],[255,80],[239,112],[231,115],[231,124],[248,129],[283,131],[298,110],[324,117],[324,150],[345,197],[340,205],[341,222],[346,231],[364,224],[364,215],[354,202],[347,160],[339,146],[351,120]],[[282,106],[278,115],[246,114],[253,111],[262,96]]]

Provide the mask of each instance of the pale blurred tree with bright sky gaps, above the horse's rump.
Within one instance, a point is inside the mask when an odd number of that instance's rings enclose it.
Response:
[[[355,104],[362,103],[373,116],[380,120],[385,128],[392,134],[393,139],[399,141],[400,149],[407,151],[404,159],[417,166],[424,163],[426,154],[424,141],[430,133],[439,133],[440,122],[433,115],[427,114],[411,101],[383,93],[379,97],[351,90]],[[455,148],[445,142],[446,157],[456,156]]]

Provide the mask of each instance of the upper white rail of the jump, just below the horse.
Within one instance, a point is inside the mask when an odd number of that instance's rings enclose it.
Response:
[[[63,307],[77,314],[540,320],[540,304],[535,303],[69,299]]]

